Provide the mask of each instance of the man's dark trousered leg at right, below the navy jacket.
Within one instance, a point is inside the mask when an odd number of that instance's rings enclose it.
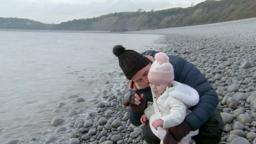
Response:
[[[215,110],[208,121],[199,129],[198,135],[194,137],[197,144],[218,144],[223,132],[223,120],[218,110]]]

